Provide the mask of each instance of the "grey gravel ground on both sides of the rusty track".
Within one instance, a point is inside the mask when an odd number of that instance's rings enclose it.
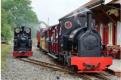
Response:
[[[43,53],[41,54],[35,47],[33,51],[32,58],[53,63],[51,58]],[[2,71],[1,78],[2,80],[82,80],[79,77],[64,74],[63,72],[17,60],[11,55],[8,56],[7,69]]]

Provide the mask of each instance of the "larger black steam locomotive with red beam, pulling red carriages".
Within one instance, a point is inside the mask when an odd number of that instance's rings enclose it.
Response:
[[[71,68],[72,72],[102,72],[112,64],[101,54],[102,44],[91,11],[64,17],[59,24],[40,29],[38,47]]]

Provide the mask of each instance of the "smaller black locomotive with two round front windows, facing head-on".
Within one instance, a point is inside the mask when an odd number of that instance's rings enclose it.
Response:
[[[32,56],[31,28],[16,27],[14,28],[14,57]]]

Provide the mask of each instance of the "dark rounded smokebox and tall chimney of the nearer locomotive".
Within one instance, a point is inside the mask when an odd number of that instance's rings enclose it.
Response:
[[[87,29],[81,29],[77,36],[79,56],[101,56],[101,38],[93,29],[93,18],[90,11],[87,12]]]

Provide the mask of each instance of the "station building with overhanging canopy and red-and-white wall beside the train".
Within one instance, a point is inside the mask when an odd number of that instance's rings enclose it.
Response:
[[[90,9],[95,19],[95,29],[100,33],[102,44],[106,47],[106,54],[121,58],[120,7],[120,0],[90,0],[64,17],[78,13],[82,8]]]

